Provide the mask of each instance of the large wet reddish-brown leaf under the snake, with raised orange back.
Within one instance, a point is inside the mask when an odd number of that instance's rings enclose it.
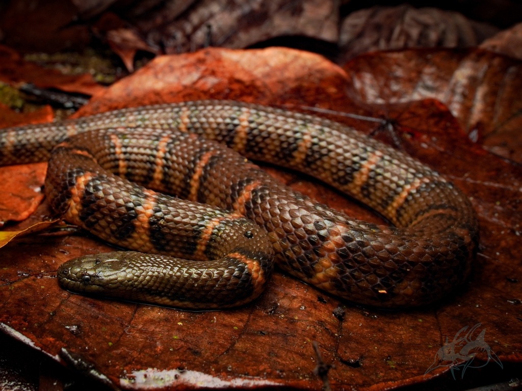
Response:
[[[323,383],[313,373],[313,341],[325,363],[335,364],[328,374],[333,389],[418,384],[443,373],[450,376],[447,365],[425,372],[436,362],[446,336],[451,340],[462,327],[478,323],[479,332],[487,329],[485,343],[504,364],[522,361],[522,314],[516,301],[522,290],[513,278],[522,272],[515,257],[520,251],[522,170],[471,143],[438,102],[363,109],[343,95],[348,86],[340,68],[309,53],[205,50],[156,58],[94,98],[81,114],[211,97],[294,107],[318,104],[390,119],[399,148],[450,176],[479,213],[481,254],[469,284],[451,297],[426,308],[378,311],[340,302],[275,273],[265,294],[244,308],[183,312],[61,290],[54,278],[58,265],[109,247],[87,235],[35,237],[2,249],[2,330],[57,361],[68,357],[78,367],[83,362],[91,375],[106,376],[124,389],[320,389]],[[366,132],[377,130],[375,123],[343,121]],[[278,176],[352,213],[353,204],[336,192],[295,174]],[[354,215],[379,222],[357,206]],[[490,362],[485,369],[495,366]]]

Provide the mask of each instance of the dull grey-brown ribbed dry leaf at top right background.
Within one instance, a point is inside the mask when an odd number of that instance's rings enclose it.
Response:
[[[470,47],[492,36],[497,28],[438,8],[372,7],[355,11],[339,33],[339,63],[367,52],[412,47]]]

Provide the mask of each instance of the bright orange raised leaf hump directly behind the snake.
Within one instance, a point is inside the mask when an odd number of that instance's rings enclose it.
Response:
[[[345,96],[346,75],[323,57],[284,48],[235,51],[208,48],[183,56],[159,56],[94,96],[75,117],[123,107],[201,99],[231,99],[288,106],[326,106]],[[159,73],[155,74],[158,70]],[[129,80],[129,79],[126,79]],[[291,82],[290,82],[291,80]],[[153,91],[153,92],[152,92]],[[122,101],[122,96],[126,99]]]

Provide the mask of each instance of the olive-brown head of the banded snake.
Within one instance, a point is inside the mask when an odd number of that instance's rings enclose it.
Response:
[[[127,277],[122,252],[84,255],[58,267],[58,283],[69,291],[108,294]]]

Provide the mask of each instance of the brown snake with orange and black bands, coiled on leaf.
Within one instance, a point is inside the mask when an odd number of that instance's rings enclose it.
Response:
[[[117,109],[0,130],[0,165],[48,161],[51,210],[126,249],[57,271],[72,292],[242,306],[274,265],[347,302],[424,306],[468,278],[478,221],[451,181],[321,116],[234,101]],[[252,161],[313,176],[382,215],[351,218]]]

